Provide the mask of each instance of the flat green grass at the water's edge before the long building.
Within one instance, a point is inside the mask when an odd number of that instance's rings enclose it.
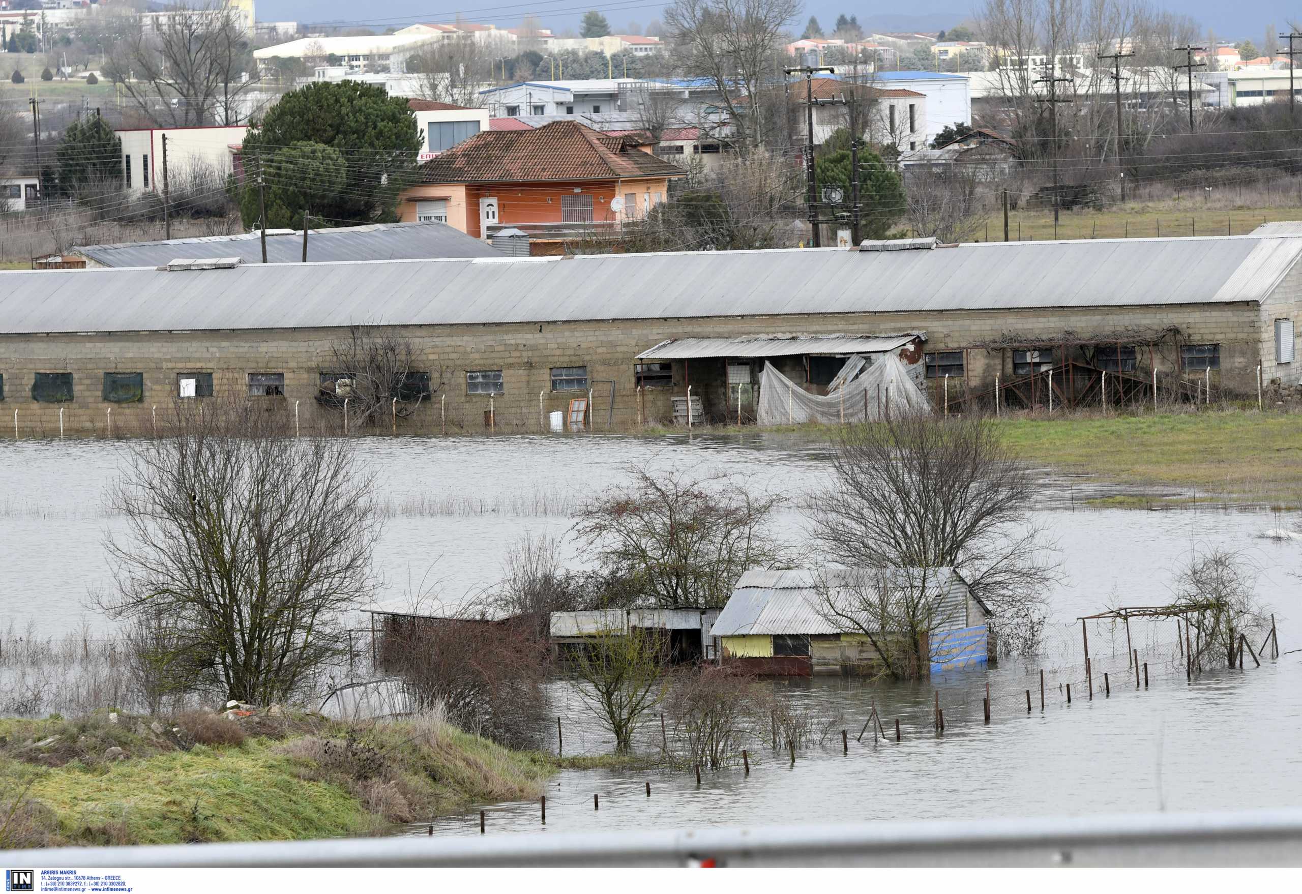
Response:
[[[995,422],[1005,444],[1027,462],[1105,481],[1165,485],[1193,498],[1233,500],[1295,509],[1302,506],[1302,415],[1212,410],[1144,415],[1004,416]],[[831,439],[835,426],[775,426],[743,433],[789,433]],[[736,426],[700,426],[695,433],[736,435]],[[682,435],[682,428],[647,427],[647,436]],[[1105,497],[1105,506],[1148,506],[1151,497]]]

